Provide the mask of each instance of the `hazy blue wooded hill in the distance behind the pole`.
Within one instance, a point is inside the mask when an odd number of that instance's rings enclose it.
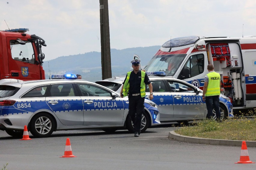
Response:
[[[111,49],[112,77],[125,76],[126,72],[132,70],[130,62],[133,60],[134,54],[139,55],[143,68],[159,49],[160,45],[126,48],[122,50]],[[101,53],[96,51],[62,56],[53,60],[44,61],[43,68],[46,79],[49,79],[50,71],[50,75],[73,73],[82,75],[82,79],[87,81],[95,82],[102,80]]]

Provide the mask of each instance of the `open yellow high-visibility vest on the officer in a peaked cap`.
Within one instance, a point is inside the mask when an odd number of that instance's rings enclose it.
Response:
[[[129,79],[130,79],[131,72],[127,72],[126,81],[123,84],[123,96],[127,96],[128,92],[129,92],[129,89],[130,89]],[[145,83],[144,83],[145,75],[146,75],[146,73],[141,71],[141,82],[140,82],[141,97],[146,96],[146,88],[145,88]]]

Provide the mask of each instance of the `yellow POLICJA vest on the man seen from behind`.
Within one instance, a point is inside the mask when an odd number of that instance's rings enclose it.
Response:
[[[221,89],[220,89],[220,81],[221,76],[219,73],[216,72],[209,72],[207,74],[209,80],[208,80],[208,86],[207,91],[205,93],[205,96],[214,96],[214,95],[220,95]]]

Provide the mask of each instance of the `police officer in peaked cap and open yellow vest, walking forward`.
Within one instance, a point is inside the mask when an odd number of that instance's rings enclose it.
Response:
[[[146,96],[145,84],[149,88],[149,99],[153,99],[153,88],[148,75],[139,70],[140,60],[132,60],[133,71],[127,72],[120,92],[121,97],[128,96],[129,115],[133,121],[134,136],[139,137],[142,113],[144,113],[144,100]]]

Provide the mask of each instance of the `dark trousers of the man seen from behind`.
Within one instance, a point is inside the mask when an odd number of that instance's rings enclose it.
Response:
[[[211,119],[213,117],[212,110],[215,109],[216,112],[216,118],[221,118],[221,111],[220,111],[220,98],[219,95],[215,96],[205,96],[205,103],[207,108],[207,115],[206,118]]]

